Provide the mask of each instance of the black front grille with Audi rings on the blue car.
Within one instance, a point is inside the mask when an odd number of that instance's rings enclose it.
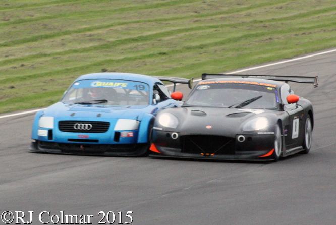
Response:
[[[86,129],[75,129],[75,124],[90,124],[92,128],[90,130]],[[63,132],[72,133],[105,133],[109,128],[109,122],[100,121],[60,121],[59,129]]]

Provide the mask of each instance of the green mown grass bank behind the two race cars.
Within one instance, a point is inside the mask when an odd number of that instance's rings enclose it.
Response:
[[[333,0],[2,0],[0,113],[92,72],[199,77],[336,46]]]

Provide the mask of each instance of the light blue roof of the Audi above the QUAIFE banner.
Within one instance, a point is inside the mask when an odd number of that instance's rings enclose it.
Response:
[[[131,80],[131,81],[139,81],[147,84],[154,85],[159,82],[162,83],[159,79],[142,75],[142,74],[132,74],[132,73],[92,73],[85,74],[78,77],[76,81],[79,80],[89,80],[89,79],[121,79],[121,80]]]

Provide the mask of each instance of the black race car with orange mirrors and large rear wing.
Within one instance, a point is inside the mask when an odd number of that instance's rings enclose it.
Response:
[[[312,104],[283,81],[318,85],[318,77],[203,74],[182,107],[157,115],[151,155],[276,161],[308,153]]]

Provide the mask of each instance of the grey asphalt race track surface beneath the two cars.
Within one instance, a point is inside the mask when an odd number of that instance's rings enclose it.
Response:
[[[109,211],[116,215],[113,224],[127,224],[126,213],[133,211],[131,224],[143,225],[334,225],[335,61],[336,53],[330,52],[241,72],[319,76],[315,89],[291,83],[314,106],[310,153],[275,163],[31,153],[34,114],[0,115],[0,213],[24,212],[18,224],[30,221],[29,211],[31,224],[62,224],[61,211],[77,216],[77,224],[108,224],[99,212]],[[184,85],[177,90],[189,92]],[[63,224],[70,224],[64,218]]]

